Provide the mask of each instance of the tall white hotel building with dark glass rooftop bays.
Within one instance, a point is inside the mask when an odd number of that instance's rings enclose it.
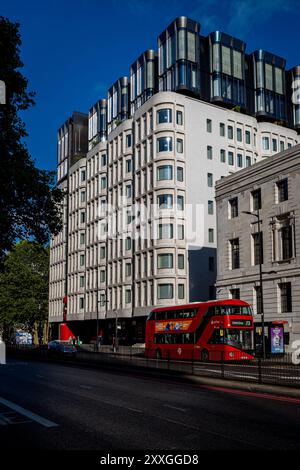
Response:
[[[109,336],[117,316],[124,341],[143,341],[154,306],[215,297],[215,182],[299,142],[299,77],[180,17],[88,115],[73,113],[58,131],[54,335],[67,323],[88,340],[98,320]]]

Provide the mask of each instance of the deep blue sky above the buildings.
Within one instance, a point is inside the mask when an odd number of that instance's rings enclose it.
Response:
[[[2,0],[21,23],[23,73],[36,91],[24,113],[27,145],[41,168],[56,167],[56,131],[73,111],[88,112],[177,16],[221,30],[300,65],[300,0]],[[1,78],[1,77],[0,77]]]

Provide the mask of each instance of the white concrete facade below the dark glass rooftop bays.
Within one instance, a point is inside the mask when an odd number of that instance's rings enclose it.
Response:
[[[161,123],[159,111],[166,117]],[[297,143],[291,129],[178,93],[155,94],[69,170],[68,320],[146,316],[153,306],[214,297],[215,182]],[[119,232],[99,241],[105,204],[130,211],[135,203],[149,208],[161,200],[185,207],[177,220],[172,207],[160,212],[161,239],[149,235],[157,230],[154,216],[142,214],[132,226],[134,241]],[[202,207],[201,243],[186,239],[186,205]],[[54,237],[51,322],[63,318],[64,246],[62,235]]]

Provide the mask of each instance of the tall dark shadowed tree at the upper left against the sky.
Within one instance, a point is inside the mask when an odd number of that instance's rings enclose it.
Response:
[[[6,104],[0,105],[0,263],[18,239],[45,244],[61,229],[62,192],[55,174],[35,166],[24,143],[20,111],[34,104],[34,93],[21,74],[19,23],[0,16],[0,80]]]

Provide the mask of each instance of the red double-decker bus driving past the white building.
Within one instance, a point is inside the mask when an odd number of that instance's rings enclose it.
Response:
[[[146,323],[146,355],[157,359],[252,360],[254,325],[250,305],[216,300],[156,308]]]

